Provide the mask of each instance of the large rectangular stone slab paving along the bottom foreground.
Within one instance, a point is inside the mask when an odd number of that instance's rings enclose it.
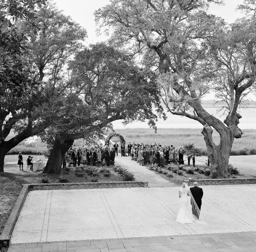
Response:
[[[12,244],[8,252],[256,251],[256,232]]]

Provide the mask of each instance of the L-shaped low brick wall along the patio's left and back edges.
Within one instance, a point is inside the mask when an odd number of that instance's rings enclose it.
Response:
[[[56,183],[56,184],[23,184],[20,194],[9,215],[0,235],[0,247],[8,246],[15,223],[20,215],[21,208],[27,193],[34,190],[61,190],[61,189],[90,189],[90,188],[121,188],[121,187],[148,187],[148,182],[117,181],[117,182],[84,182],[84,183]]]

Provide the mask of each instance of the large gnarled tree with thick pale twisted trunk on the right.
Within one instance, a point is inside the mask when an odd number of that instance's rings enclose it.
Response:
[[[228,25],[196,0],[111,0],[95,12],[99,29],[113,30],[111,41],[160,73],[161,96],[168,111],[203,125],[212,177],[228,176],[228,160],[241,115],[237,109],[255,81],[255,18]],[[201,99],[210,90],[225,94],[224,122],[209,114]],[[220,143],[212,140],[212,128]]]

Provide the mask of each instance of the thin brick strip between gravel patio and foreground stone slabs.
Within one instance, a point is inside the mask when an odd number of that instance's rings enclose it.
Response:
[[[207,233],[207,234],[184,234],[184,235],[166,235],[166,236],[145,236],[130,238],[110,238],[110,239],[92,239],[92,240],[76,240],[76,241],[59,241],[59,242],[31,242],[31,243],[10,243],[10,246],[32,245],[32,244],[59,244],[59,243],[79,243],[79,242],[102,242],[102,241],[121,241],[121,240],[141,240],[154,238],[175,238],[175,237],[211,237],[212,235],[229,235],[229,234],[255,233],[255,231],[232,232],[232,233]]]

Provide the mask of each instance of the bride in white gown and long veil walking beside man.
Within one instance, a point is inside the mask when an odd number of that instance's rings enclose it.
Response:
[[[195,203],[195,199],[192,196],[187,183],[183,183],[182,187],[179,189],[179,198],[180,198],[181,208],[179,209],[176,221],[181,224],[193,223],[193,222],[205,224],[205,222],[202,219],[202,216],[200,216],[200,210],[197,204]],[[190,203],[189,203],[189,198],[190,198]],[[197,218],[197,216],[192,214],[193,204],[195,206],[195,209],[197,211],[199,218]]]

